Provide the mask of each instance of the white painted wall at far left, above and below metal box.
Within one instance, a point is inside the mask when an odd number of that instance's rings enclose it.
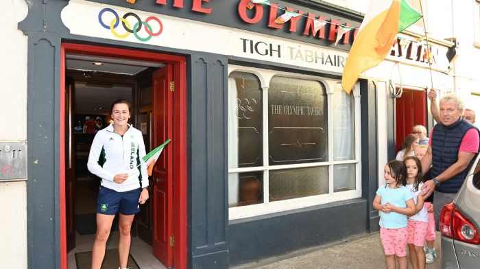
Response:
[[[3,10],[3,41],[0,81],[0,141],[27,140],[27,37],[17,23],[27,16],[23,0],[0,1]],[[6,41],[6,42],[5,42]],[[0,222],[1,268],[27,268],[27,184],[1,182]]]

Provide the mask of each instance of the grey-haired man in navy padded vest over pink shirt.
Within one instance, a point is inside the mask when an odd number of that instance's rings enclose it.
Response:
[[[431,101],[435,102],[434,98]],[[457,95],[447,94],[440,99],[440,123],[433,127],[427,154],[422,159],[424,174],[432,166],[432,179],[422,189],[427,197],[435,191],[437,229],[442,208],[455,197],[479,152],[479,130],[461,117],[463,112],[464,103]]]

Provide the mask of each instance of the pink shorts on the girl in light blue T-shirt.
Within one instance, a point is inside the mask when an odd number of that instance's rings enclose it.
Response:
[[[407,256],[408,227],[386,229],[380,227],[380,239],[385,255]]]

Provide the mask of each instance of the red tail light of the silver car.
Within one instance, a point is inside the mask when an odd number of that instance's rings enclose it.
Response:
[[[442,209],[439,228],[443,236],[470,244],[480,244],[480,236],[477,229],[470,220],[461,215],[453,202],[446,204]]]

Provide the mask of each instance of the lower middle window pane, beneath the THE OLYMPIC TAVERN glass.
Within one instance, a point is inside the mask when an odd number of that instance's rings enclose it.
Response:
[[[269,200],[328,194],[328,167],[270,171]]]

